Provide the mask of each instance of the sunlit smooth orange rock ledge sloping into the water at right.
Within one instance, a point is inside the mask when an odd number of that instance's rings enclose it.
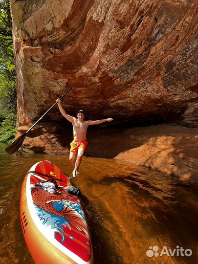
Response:
[[[198,136],[163,136],[150,139],[143,146],[132,150],[130,156],[137,159],[139,165],[198,183],[197,149]]]

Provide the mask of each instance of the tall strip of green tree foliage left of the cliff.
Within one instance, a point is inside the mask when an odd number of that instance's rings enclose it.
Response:
[[[10,0],[0,0],[0,141],[3,142],[15,135],[16,97]]]

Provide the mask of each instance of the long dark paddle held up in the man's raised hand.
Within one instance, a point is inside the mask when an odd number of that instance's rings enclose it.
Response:
[[[69,91],[71,90],[71,87],[64,93],[64,95],[61,96],[60,99],[62,99]],[[37,120],[37,122],[31,126],[30,129],[28,129],[28,131],[24,132],[22,135],[20,135],[18,138],[15,139],[15,141],[13,141],[6,149],[5,151],[9,154],[14,154],[15,152],[18,151],[18,149],[22,146],[22,142],[24,141],[27,133],[29,133],[33,127],[36,126],[36,124],[44,117],[45,114],[47,114],[55,105],[57,104],[57,102],[55,104],[53,104],[53,106],[50,107],[50,109],[48,109],[43,115],[42,117],[39,118],[39,120]]]

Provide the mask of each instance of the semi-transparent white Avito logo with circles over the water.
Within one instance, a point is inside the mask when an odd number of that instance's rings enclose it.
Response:
[[[163,255],[166,255],[168,257],[174,257],[174,256],[181,256],[181,257],[190,257],[193,254],[193,251],[190,248],[183,248],[182,246],[176,246],[173,250],[171,248],[167,248],[167,246],[163,246],[161,252],[159,253],[159,247],[157,245],[150,246],[149,250],[147,250],[146,255],[149,258],[152,257],[162,257]]]

